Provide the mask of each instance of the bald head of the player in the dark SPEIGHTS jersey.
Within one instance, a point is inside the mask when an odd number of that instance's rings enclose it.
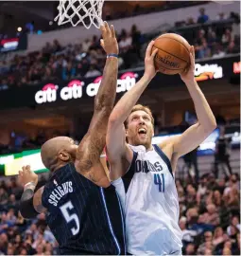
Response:
[[[44,166],[53,170],[58,163],[69,162],[75,158],[77,146],[70,137],[53,137],[47,140],[41,148],[41,157]]]

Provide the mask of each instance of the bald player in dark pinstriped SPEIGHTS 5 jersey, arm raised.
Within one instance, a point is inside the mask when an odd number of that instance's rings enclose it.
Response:
[[[107,61],[89,130],[77,146],[70,137],[43,144],[41,156],[51,177],[35,191],[38,175],[20,171],[24,186],[20,211],[25,218],[46,213],[46,223],[58,241],[60,254],[125,254],[121,203],[100,162],[108,119],[116,94],[118,44],[114,27],[101,27]]]

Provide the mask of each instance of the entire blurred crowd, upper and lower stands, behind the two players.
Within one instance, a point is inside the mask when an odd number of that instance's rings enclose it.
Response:
[[[162,8],[175,8],[171,7],[172,3],[177,3],[175,7],[180,5],[178,2],[167,2]],[[132,15],[146,11],[137,6]],[[107,20],[111,19],[107,17]],[[227,26],[225,21],[231,19],[232,23]],[[223,25],[216,26],[218,23]],[[184,37],[185,32],[192,32],[191,40],[188,35],[186,38],[195,46],[198,59],[240,52],[239,17],[235,13],[209,17],[205,9],[200,9],[197,19],[189,17],[177,23],[171,31],[180,32]],[[117,37],[120,68],[143,64],[149,36],[133,26],[130,30],[123,29]],[[16,55],[10,63],[0,62],[0,90],[56,79],[68,81],[95,77],[101,75],[105,60],[106,56],[96,36],[69,46],[61,46],[61,42],[55,40],[47,43],[39,52],[27,56]],[[155,134],[159,134],[162,117],[157,117],[156,121]],[[0,145],[0,154],[39,148],[48,138],[60,135],[54,132],[47,136],[44,131],[40,131],[36,137],[28,137],[13,133],[11,144]],[[66,136],[70,136],[69,133]],[[216,152],[214,156],[215,164],[220,160],[220,152],[218,154]],[[218,174],[216,170],[217,166],[211,170],[214,173],[202,174],[198,167],[198,179],[189,175],[188,178],[176,180],[184,255],[240,255],[240,177],[232,172]],[[44,185],[47,177],[48,174],[40,174],[39,186]],[[58,243],[45,224],[45,214],[40,214],[34,220],[25,220],[19,213],[22,192],[16,177],[0,180],[0,255],[57,255]]]

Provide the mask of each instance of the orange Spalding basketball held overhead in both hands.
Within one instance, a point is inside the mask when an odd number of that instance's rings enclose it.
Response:
[[[190,45],[180,35],[167,33],[155,40],[152,51],[158,48],[155,67],[166,75],[181,73],[190,64]]]

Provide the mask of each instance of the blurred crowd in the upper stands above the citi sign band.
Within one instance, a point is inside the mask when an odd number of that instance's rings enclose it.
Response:
[[[186,29],[179,31],[179,27],[173,27],[171,31],[180,32],[195,46],[198,59],[223,57],[240,52],[239,17],[232,13],[229,18],[232,18],[232,23],[228,25],[224,22],[218,27],[216,23],[204,26],[209,22],[209,17],[205,14],[205,9],[200,9],[198,27],[189,29],[185,24]],[[224,21],[225,19],[226,17],[223,17]],[[189,23],[192,25],[190,20]],[[187,34],[190,31],[192,34]],[[161,31],[158,32],[160,33]],[[149,35],[142,34],[138,27],[133,26],[130,30],[122,29],[117,38],[120,48],[119,68],[128,69],[138,64],[143,65]],[[9,63],[0,62],[0,89],[57,79],[68,81],[99,76],[105,60],[106,56],[97,36],[68,46],[61,46],[61,43],[55,40],[43,46],[41,51],[26,56],[16,55]]]

